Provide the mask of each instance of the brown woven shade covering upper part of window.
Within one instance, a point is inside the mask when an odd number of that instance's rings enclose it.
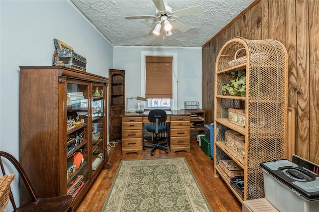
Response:
[[[173,98],[173,57],[146,56],[146,92],[147,99]]]

